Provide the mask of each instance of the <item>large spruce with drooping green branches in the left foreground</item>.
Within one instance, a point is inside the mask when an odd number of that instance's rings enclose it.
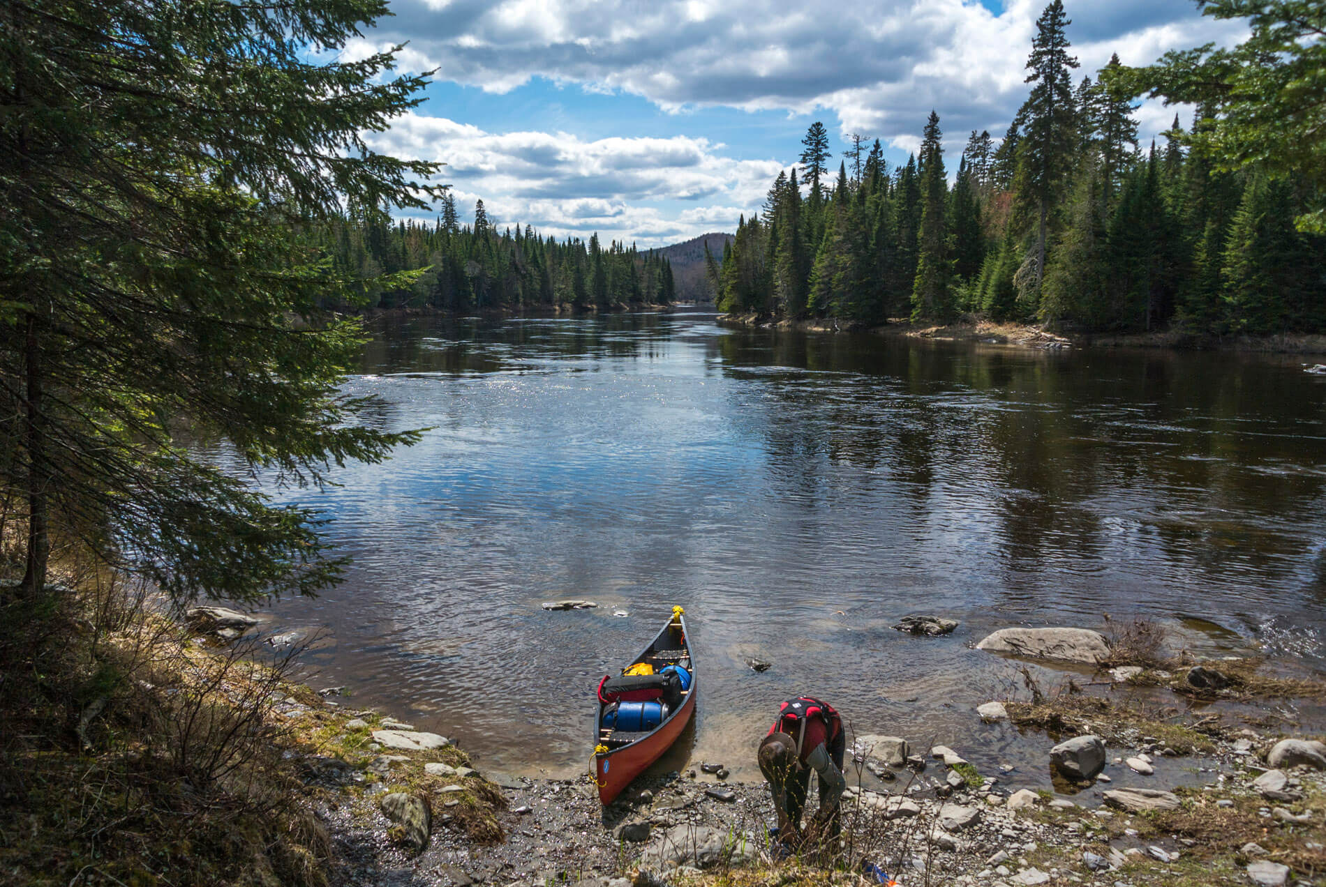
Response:
[[[176,599],[337,578],[313,513],[187,442],[317,485],[412,439],[355,422],[339,383],[365,335],[322,305],[365,286],[332,273],[314,231],[442,196],[416,184],[436,164],[361,135],[423,101],[391,53],[339,61],[383,15],[382,0],[4,4],[0,480],[24,501],[20,597],[45,594],[56,534]]]

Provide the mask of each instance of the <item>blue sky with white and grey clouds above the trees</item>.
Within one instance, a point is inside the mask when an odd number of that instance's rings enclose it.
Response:
[[[1118,52],[1229,42],[1237,23],[1189,0],[1066,0],[1091,74]],[[794,4],[785,0],[392,0],[346,57],[407,42],[406,72],[436,69],[428,101],[370,145],[443,160],[465,216],[663,245],[732,231],[823,121],[906,162],[939,111],[956,167],[972,129],[1000,137],[1026,94],[1044,0]],[[1138,110],[1143,141],[1175,109]],[[1187,118],[1187,114],[1185,114]]]

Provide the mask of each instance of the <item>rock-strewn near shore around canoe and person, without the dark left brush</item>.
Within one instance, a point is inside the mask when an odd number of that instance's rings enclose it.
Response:
[[[223,632],[243,631],[244,618],[212,609],[191,622],[228,638]],[[898,627],[941,634],[949,622],[912,618]],[[1253,689],[1323,689],[1257,683],[1253,667],[1233,660],[1180,667],[1139,647],[1132,631],[1106,639],[1082,628],[1017,627],[976,646],[1090,663],[1107,684],[1167,680],[1176,693],[1211,701],[1246,699]],[[1114,664],[1128,655],[1147,664]],[[587,776],[484,772],[440,735],[349,709],[338,688],[292,689],[272,709],[289,737],[282,756],[301,774],[301,803],[329,835],[333,883],[347,887],[686,887],[732,883],[735,872],[768,887],[825,878],[878,883],[859,874],[866,866],[908,887],[1297,887],[1326,875],[1326,745],[1240,727],[1219,712],[1148,721],[1081,691],[1054,699],[1036,691],[1040,699],[991,700],[972,712],[1044,742],[1059,793],[1017,789],[1013,766],[979,773],[960,749],[851,736],[845,839],[826,868],[812,864],[819,859],[773,859],[766,788],[720,778],[724,762],[643,777],[602,807]],[[1188,784],[1166,784],[1162,760],[1188,761]]]

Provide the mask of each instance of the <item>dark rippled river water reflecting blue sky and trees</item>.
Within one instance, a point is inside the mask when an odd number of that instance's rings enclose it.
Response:
[[[349,387],[381,398],[370,423],[431,430],[298,496],[354,565],[274,624],[324,631],[305,662],[342,704],[508,772],[585,766],[597,680],[672,605],[703,689],[663,766],[751,773],[777,703],[810,693],[859,733],[1034,769],[1042,739],[973,713],[1021,681],[969,648],[994,628],[1144,615],[1211,651],[1326,666],[1323,386],[1290,358],[703,312],[391,321]],[[540,607],[562,598],[599,607]],[[961,626],[891,628],[915,613]]]

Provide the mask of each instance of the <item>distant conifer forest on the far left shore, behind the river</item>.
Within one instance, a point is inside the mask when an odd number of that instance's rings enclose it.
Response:
[[[432,309],[446,313],[615,310],[676,300],[671,263],[654,249],[598,235],[558,241],[532,227],[497,232],[484,202],[472,225],[461,225],[456,200],[442,198],[435,224],[332,219],[320,232],[335,273],[363,281],[354,302],[329,308]]]

